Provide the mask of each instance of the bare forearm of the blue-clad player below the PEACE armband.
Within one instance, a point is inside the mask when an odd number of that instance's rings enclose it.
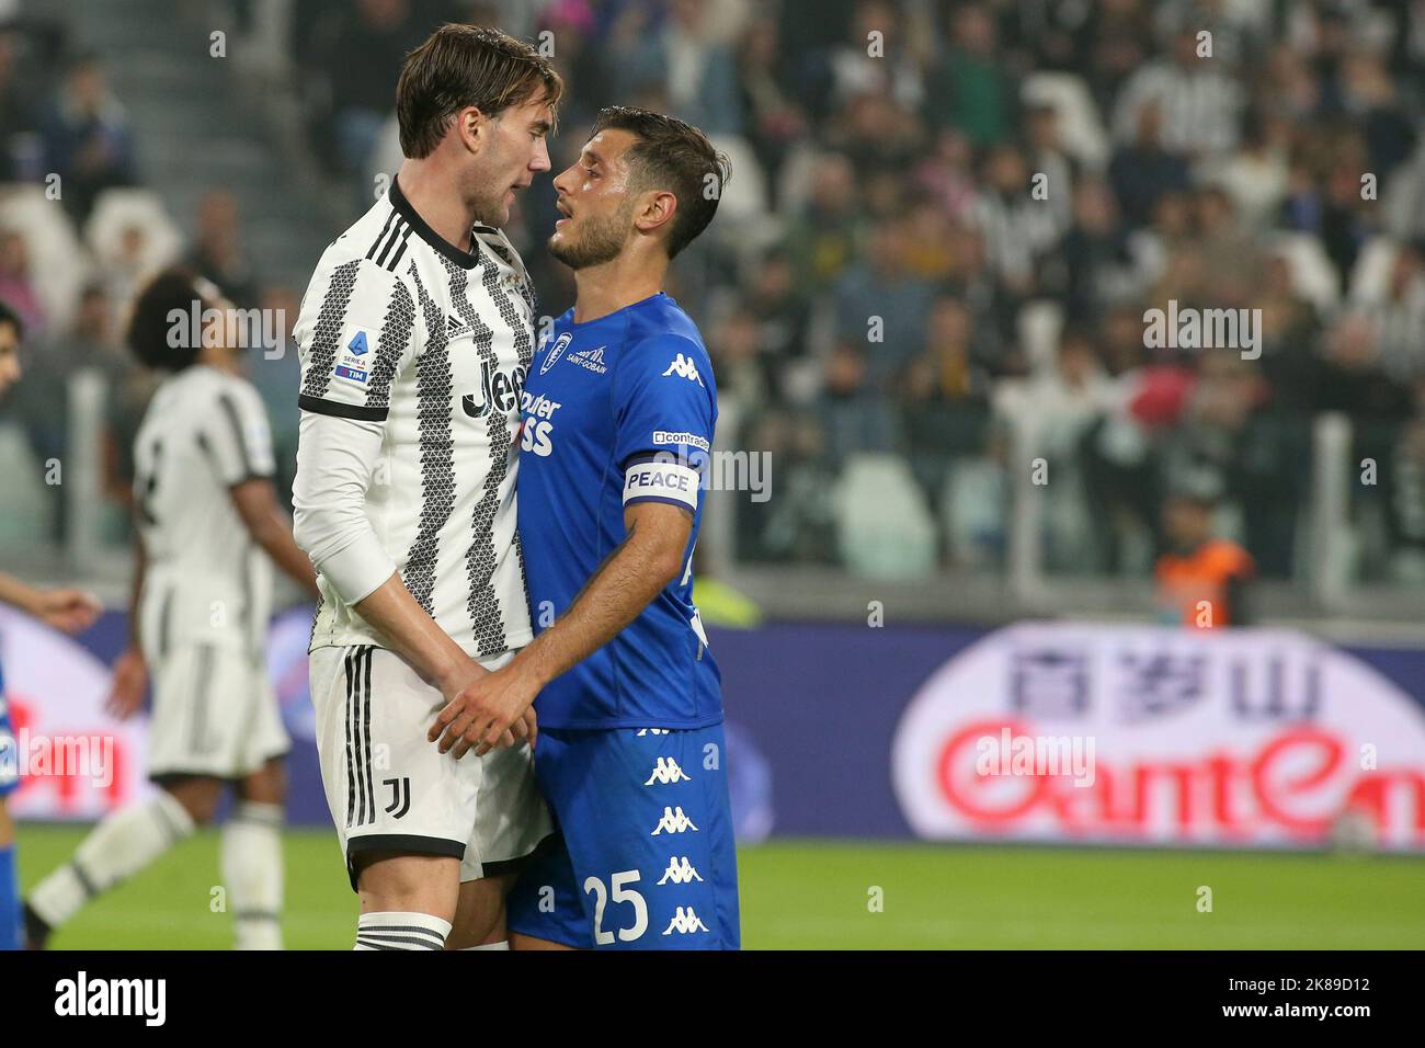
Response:
[[[573,669],[618,636],[677,577],[680,552],[634,526],[590,576],[569,610],[520,652],[516,662],[540,687]]]

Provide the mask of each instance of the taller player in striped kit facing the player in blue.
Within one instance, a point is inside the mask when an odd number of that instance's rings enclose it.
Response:
[[[530,640],[514,519],[534,292],[500,231],[550,167],[561,81],[532,47],[445,26],[406,58],[406,160],[302,304],[296,538],[321,573],[312,703],[361,895],[358,950],[506,947],[513,870],[549,834],[533,716],[457,761],[436,713]]]

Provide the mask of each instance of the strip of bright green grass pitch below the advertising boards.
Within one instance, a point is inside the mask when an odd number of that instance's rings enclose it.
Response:
[[[21,824],[24,884],[66,861],[83,833]],[[335,836],[291,830],[285,843],[288,948],[349,948],[356,898]],[[754,950],[1425,947],[1418,857],[778,841],[740,848],[740,875]],[[51,945],[224,950],[231,918],[211,910],[217,884],[209,830],[93,903]],[[1211,913],[1198,911],[1200,885]]]

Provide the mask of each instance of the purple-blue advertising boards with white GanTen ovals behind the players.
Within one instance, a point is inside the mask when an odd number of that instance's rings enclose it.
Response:
[[[289,817],[323,826],[309,622],[275,620],[269,670]],[[125,635],[120,613],[77,642],[0,615],[21,818],[91,820],[148,788],[142,720],[103,711]],[[710,635],[728,710],[710,759],[742,840],[1425,850],[1425,649],[1080,622]]]

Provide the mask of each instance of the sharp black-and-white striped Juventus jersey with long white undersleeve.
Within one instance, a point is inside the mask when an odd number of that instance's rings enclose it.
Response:
[[[514,475],[534,309],[503,232],[477,225],[460,251],[395,181],[323,252],[294,332],[314,649],[385,646],[352,606],[392,570],[469,654],[530,640]]]

